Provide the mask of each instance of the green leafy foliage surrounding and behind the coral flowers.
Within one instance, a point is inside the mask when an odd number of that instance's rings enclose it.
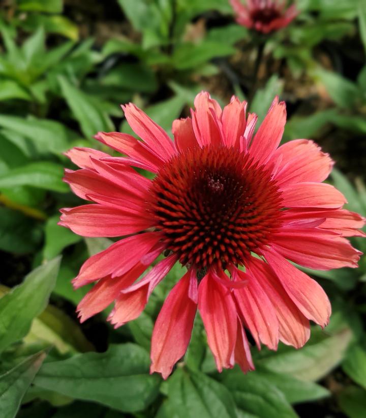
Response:
[[[262,120],[279,94],[284,141],[313,138],[337,162],[331,181],[366,216],[366,3],[298,0],[286,29],[258,36],[227,0],[3,0],[0,9],[0,415],[116,418],[350,416],[366,410],[366,258],[357,270],[311,271],[333,314],[300,350],[254,348],[256,372],[218,374],[196,319],[167,381],[149,375],[151,331],[178,265],[132,323],[108,310],[78,323],[87,289],[70,284],[111,240],[57,226],[80,204],[63,152],[103,148],[97,131],[130,128],[133,101],[170,132],[194,96],[250,99]],[[264,46],[257,68],[256,51]],[[103,151],[108,151],[103,149]],[[108,151],[110,152],[110,150]],[[354,239],[366,251],[366,243]]]

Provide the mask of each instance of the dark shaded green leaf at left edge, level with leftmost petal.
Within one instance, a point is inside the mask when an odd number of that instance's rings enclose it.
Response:
[[[34,251],[41,239],[42,233],[31,218],[0,207],[0,249],[15,254],[28,253]]]

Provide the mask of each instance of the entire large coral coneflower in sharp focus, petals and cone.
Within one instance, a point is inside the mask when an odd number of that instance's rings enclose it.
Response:
[[[67,153],[80,170],[67,170],[65,181],[93,203],[63,209],[60,225],[85,237],[124,237],[90,257],[74,279],[75,288],[97,282],[78,305],[81,321],[114,302],[108,319],[123,325],[140,315],[175,263],[187,268],[151,341],[151,372],[164,378],[187,350],[197,309],[219,371],[234,363],[254,368],[246,328],[258,348],[276,350],[279,340],[304,345],[309,320],[324,327],[330,304],[289,260],[356,267],[361,253],[345,237],[364,235],[364,219],[342,209],[343,194],[322,183],[333,164],[328,154],[308,140],[279,147],[284,102],[273,101],[256,133],[257,116],[247,118],[247,103],[236,97],[221,109],[202,92],[194,104],[191,118],[173,122],[174,141],[130,103],[125,116],[141,141],[97,135],[125,156]]]

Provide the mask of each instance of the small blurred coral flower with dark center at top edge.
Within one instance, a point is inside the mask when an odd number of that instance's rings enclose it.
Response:
[[[298,14],[295,5],[286,8],[285,0],[230,0],[236,21],[248,29],[268,34],[286,27]]]

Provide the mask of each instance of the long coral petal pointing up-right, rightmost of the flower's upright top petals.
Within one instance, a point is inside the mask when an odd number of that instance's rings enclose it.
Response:
[[[260,164],[268,161],[271,154],[279,146],[286,123],[285,102],[278,101],[278,97],[268,110],[249,148],[250,155]]]

